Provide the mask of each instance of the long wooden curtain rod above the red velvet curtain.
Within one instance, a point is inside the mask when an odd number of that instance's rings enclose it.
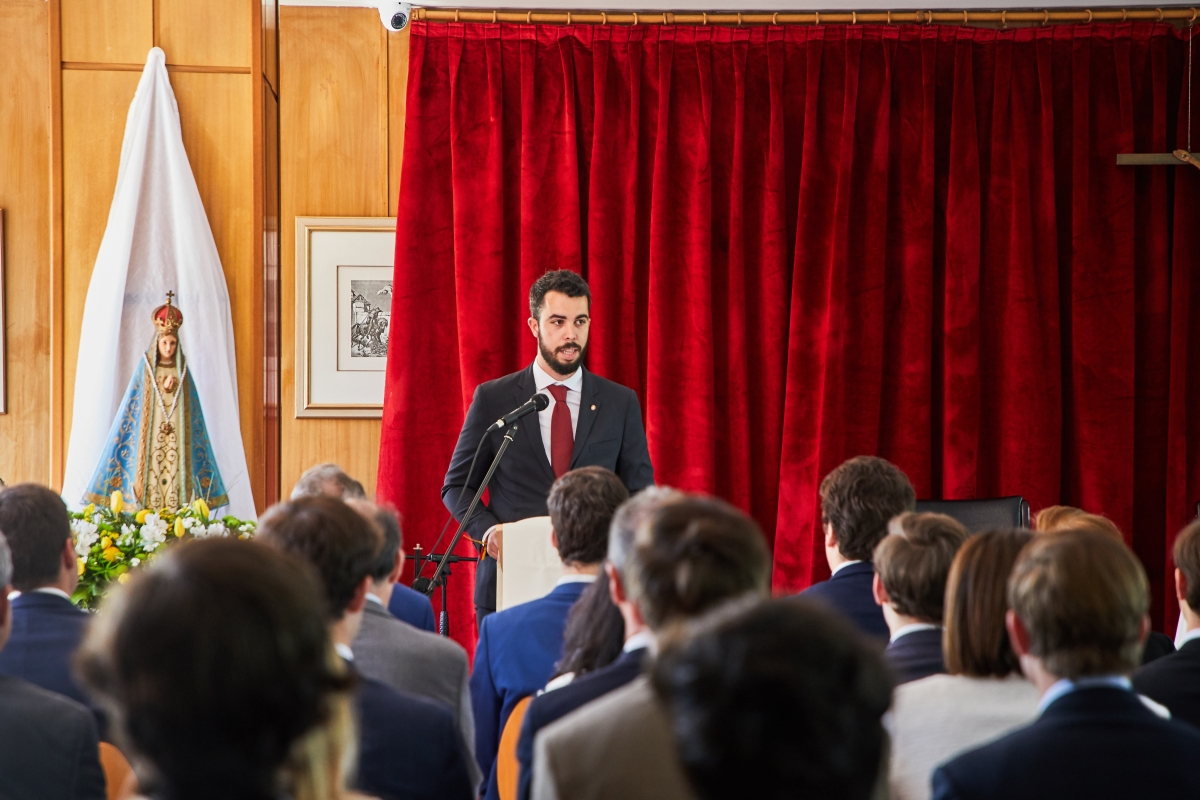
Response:
[[[1092,11],[1091,8],[1074,11],[836,11],[814,12],[776,12],[776,13],[672,13],[659,11],[606,12],[606,11],[512,11],[493,8],[413,8],[413,17],[432,23],[526,23],[551,25],[821,25],[842,23],[851,25],[929,25],[934,23],[952,23],[958,25],[994,25],[1008,26],[1008,23],[1093,23],[1128,22],[1148,19],[1153,22],[1180,20],[1194,23],[1198,19],[1195,8],[1120,8]]]

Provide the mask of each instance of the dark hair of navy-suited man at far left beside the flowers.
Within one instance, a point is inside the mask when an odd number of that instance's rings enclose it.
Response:
[[[0,533],[12,551],[12,587],[30,591],[56,583],[71,518],[56,492],[17,483],[0,492]]]

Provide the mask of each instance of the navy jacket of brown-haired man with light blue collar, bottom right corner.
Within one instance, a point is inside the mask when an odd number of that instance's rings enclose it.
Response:
[[[1121,688],[1064,694],[1032,724],[934,771],[934,800],[1200,798],[1200,730]]]

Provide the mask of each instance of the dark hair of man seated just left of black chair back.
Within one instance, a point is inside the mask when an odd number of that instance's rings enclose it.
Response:
[[[870,561],[888,521],[916,507],[908,477],[875,456],[851,458],[821,481],[821,519],[833,525],[838,551],[847,559]]]

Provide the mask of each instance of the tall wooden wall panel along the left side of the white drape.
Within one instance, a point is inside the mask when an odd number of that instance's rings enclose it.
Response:
[[[84,300],[113,204],[125,119],[140,77],[137,72],[62,72],[64,456],[71,439]]]

